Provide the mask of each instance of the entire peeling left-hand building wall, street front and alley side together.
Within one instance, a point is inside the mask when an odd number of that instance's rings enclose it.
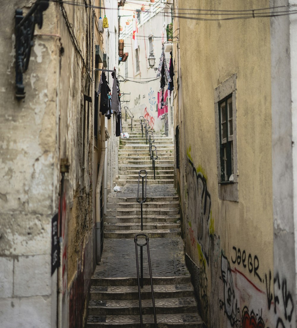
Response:
[[[17,100],[14,15],[32,5],[0,1],[0,325],[82,327],[95,266],[94,69],[103,39],[98,10],[49,2],[23,74],[26,96]],[[109,24],[114,30],[116,15]],[[51,275],[55,217],[60,266]]]

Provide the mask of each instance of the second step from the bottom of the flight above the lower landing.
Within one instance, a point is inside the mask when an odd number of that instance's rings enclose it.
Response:
[[[153,230],[153,229],[179,229],[180,222],[149,222],[143,223],[144,230]],[[117,223],[106,223],[104,224],[104,231],[110,230],[140,230],[141,224],[140,220],[138,223],[134,222],[117,222]]]

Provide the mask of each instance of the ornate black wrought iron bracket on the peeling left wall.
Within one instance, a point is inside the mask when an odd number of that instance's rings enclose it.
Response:
[[[22,9],[15,10],[15,82],[17,99],[25,98],[26,92],[23,84],[23,73],[29,66],[35,24],[41,29],[43,11],[49,6],[49,0],[37,0],[26,16]]]

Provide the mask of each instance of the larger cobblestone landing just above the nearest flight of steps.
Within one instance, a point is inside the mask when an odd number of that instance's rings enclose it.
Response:
[[[149,248],[153,277],[189,275],[181,237],[150,238]],[[97,265],[93,277],[136,277],[136,275],[134,239],[105,238],[101,264]],[[146,247],[143,247],[143,276],[149,277]]]

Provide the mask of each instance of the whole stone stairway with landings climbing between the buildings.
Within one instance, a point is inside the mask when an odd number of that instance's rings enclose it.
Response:
[[[154,180],[149,144],[141,137],[139,121],[133,122],[132,132],[130,129],[123,121],[123,131],[130,137],[121,140],[121,193],[108,196],[103,254],[92,277],[87,327],[140,327],[134,236],[141,232],[140,204],[136,201],[141,169],[148,172],[143,233],[149,236],[158,327],[203,327],[180,237],[173,141],[162,133],[154,134],[159,156]],[[145,249],[143,258],[141,297],[144,327],[148,328],[154,327],[154,317]]]

